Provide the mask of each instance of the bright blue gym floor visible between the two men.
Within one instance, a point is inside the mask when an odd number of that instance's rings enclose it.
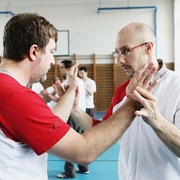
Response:
[[[96,113],[96,118],[101,119],[104,113]],[[78,174],[74,180],[118,180],[119,144],[114,144],[94,162],[89,165],[89,174]],[[75,168],[77,165],[75,164]],[[58,180],[57,174],[64,172],[64,161],[58,157],[48,156],[49,180]]]

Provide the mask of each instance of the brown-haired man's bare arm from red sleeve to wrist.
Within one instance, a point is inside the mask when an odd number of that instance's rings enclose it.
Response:
[[[82,135],[70,129],[49,152],[78,164],[91,163],[124,134],[134,118],[135,109],[132,102],[125,103],[109,119]]]

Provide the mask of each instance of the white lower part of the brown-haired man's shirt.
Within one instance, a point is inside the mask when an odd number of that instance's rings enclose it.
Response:
[[[47,153],[38,156],[28,145],[11,140],[1,130],[0,147],[0,180],[11,180],[12,177],[18,180],[48,180]]]

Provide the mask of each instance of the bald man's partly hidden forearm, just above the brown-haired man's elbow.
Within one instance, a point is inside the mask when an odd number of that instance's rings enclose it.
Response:
[[[81,110],[79,107],[75,107],[71,111],[71,116],[76,123],[83,129],[87,130],[92,127],[93,119],[87,113]]]

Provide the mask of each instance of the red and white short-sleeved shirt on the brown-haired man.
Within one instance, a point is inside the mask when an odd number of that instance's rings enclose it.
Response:
[[[46,180],[46,153],[70,129],[43,99],[0,72],[0,178]]]

